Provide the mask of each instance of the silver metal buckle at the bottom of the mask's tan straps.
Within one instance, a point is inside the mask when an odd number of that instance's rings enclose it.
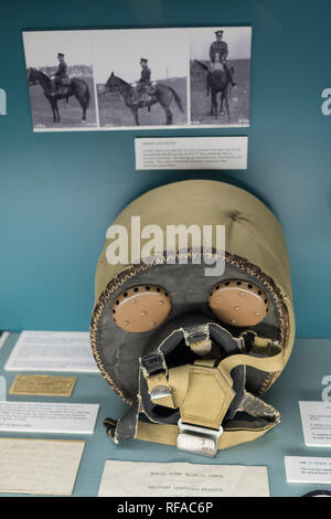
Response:
[[[218,439],[223,434],[223,427],[218,430],[201,427],[199,425],[184,424],[181,419],[178,421],[179,435],[177,437],[177,448],[194,454],[214,457],[217,454]]]

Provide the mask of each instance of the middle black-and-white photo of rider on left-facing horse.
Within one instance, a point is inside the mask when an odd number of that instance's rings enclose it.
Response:
[[[96,31],[93,42],[100,126],[188,125],[185,31]]]

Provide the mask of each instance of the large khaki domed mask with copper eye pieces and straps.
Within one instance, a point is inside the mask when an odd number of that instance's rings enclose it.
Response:
[[[164,186],[128,205],[115,224],[127,230],[129,252],[134,215],[164,231],[224,225],[225,251],[211,248],[224,269],[205,275],[205,256],[192,246],[114,265],[106,240],[90,341],[102,373],[131,405],[119,421],[106,419],[110,438],[207,456],[258,438],[280,420],[259,396],[285,368],[295,336],[278,221],[246,191],[204,180]]]

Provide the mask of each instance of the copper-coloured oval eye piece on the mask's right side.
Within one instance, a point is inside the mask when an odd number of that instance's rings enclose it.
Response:
[[[253,283],[226,279],[213,287],[209,306],[226,325],[255,326],[266,317],[268,299]]]

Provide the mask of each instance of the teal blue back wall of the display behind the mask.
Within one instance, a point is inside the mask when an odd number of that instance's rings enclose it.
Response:
[[[132,198],[186,178],[259,195],[289,246],[297,335],[331,336],[331,2],[7,1],[0,12],[0,328],[87,330],[106,227]],[[252,24],[250,128],[33,134],[22,30]],[[134,138],[248,135],[248,170],[135,172]]]

